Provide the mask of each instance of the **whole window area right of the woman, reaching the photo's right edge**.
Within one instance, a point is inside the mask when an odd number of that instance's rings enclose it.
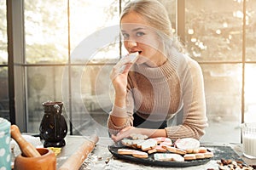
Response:
[[[206,139],[218,133],[219,139],[212,140],[239,142],[240,123],[256,118],[252,78],[256,3],[246,3],[243,8],[240,0],[185,1],[185,42],[189,54],[201,64],[205,79],[209,119]],[[243,41],[243,37],[247,39]]]

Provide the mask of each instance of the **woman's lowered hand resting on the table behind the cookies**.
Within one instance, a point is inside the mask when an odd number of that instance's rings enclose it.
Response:
[[[121,139],[130,137],[132,133],[140,133],[140,129],[137,127],[125,127],[122,130],[120,130],[117,135],[111,135],[111,139],[113,139],[114,142],[118,142]]]

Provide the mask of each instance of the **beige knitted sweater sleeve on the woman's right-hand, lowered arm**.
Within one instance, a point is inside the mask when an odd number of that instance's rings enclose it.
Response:
[[[201,139],[207,127],[206,102],[201,67],[188,59],[187,71],[183,74],[183,124],[166,127],[171,139]]]

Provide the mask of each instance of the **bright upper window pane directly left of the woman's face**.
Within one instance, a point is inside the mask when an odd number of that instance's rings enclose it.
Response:
[[[70,3],[71,62],[95,63],[119,58],[118,1]]]

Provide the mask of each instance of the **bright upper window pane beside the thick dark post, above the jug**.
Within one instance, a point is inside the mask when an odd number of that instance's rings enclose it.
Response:
[[[24,2],[26,63],[66,63],[67,1]]]

